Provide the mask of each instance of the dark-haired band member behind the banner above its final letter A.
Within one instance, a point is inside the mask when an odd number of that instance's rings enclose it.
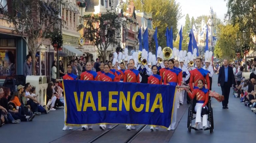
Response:
[[[162,85],[162,77],[157,75],[156,65],[152,66],[152,73],[153,74],[150,77],[148,77],[148,83],[149,84],[160,84],[160,85]],[[158,126],[156,126],[155,129],[158,130]],[[150,126],[150,130],[154,131],[154,126]]]

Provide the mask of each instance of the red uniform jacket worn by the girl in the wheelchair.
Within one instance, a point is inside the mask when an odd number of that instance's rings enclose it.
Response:
[[[202,89],[194,89],[192,93],[187,92],[189,98],[192,100],[196,97],[196,101],[204,101],[204,104],[202,107],[206,106],[209,100],[209,90],[205,89],[204,87]]]

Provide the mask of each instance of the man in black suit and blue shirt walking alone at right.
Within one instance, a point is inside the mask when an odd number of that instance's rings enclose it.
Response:
[[[221,87],[224,100],[222,101],[222,108],[228,109],[228,98],[230,93],[230,87],[235,84],[235,77],[233,69],[228,66],[228,60],[223,60],[223,66],[219,69],[218,86]]]

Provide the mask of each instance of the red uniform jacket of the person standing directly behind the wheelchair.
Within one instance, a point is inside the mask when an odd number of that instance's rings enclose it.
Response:
[[[190,73],[189,86],[191,91],[193,91],[194,88],[198,88],[197,87],[198,80],[203,80],[204,85],[206,80],[207,89],[210,89],[210,79],[209,79],[209,73],[207,70],[203,68],[200,68],[200,69],[195,68],[191,70],[189,73]],[[193,83],[194,83],[194,86],[193,86]]]

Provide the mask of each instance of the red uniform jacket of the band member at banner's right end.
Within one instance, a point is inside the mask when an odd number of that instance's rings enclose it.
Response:
[[[180,77],[181,76],[181,77]],[[176,69],[169,69],[165,72],[165,77],[163,80],[163,84],[166,85],[169,83],[170,85],[181,85],[182,74]]]

